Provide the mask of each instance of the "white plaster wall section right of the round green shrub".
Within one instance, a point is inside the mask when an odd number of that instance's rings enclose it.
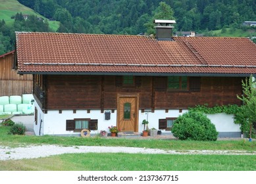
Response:
[[[239,124],[234,124],[233,114],[207,114],[207,117],[211,120],[218,132],[238,132],[240,130]]]

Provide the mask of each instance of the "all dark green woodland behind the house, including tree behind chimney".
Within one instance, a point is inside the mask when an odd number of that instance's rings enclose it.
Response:
[[[256,21],[255,0],[18,0],[50,20],[61,22],[57,32],[91,34],[152,34],[153,18],[175,19],[175,31],[195,31],[215,36],[211,30],[231,33]],[[163,1],[164,3],[161,3]],[[13,15],[14,16],[14,15]],[[47,20],[17,12],[13,24],[0,19],[0,55],[14,49],[14,32],[54,32]],[[238,36],[245,36],[238,35]],[[248,35],[246,35],[248,36]]]

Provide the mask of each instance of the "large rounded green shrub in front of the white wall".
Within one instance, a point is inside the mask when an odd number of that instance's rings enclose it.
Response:
[[[205,114],[190,111],[175,120],[172,133],[180,140],[194,141],[216,141],[218,136],[215,125]]]

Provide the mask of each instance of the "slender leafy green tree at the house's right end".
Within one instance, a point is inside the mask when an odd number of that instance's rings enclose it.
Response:
[[[246,78],[245,81],[242,80],[242,89],[242,96],[237,97],[243,102],[243,105],[236,120],[243,119],[240,124],[244,130],[249,129],[249,139],[251,139],[253,123],[256,122],[256,89],[253,76],[250,76],[249,79]]]

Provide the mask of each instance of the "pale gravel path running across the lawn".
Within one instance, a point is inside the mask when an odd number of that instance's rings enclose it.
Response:
[[[162,149],[143,149],[134,147],[61,147],[57,145],[41,145],[30,147],[1,147],[0,160],[18,160],[24,158],[39,158],[56,154],[65,153],[87,153],[87,152],[126,152],[143,154],[246,154],[256,155],[256,151],[243,150],[162,150]]]

